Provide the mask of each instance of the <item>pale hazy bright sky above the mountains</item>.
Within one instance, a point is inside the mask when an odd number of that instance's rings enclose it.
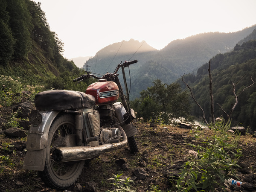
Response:
[[[94,56],[131,38],[156,49],[204,32],[235,32],[256,24],[256,0],[34,0],[65,58]]]

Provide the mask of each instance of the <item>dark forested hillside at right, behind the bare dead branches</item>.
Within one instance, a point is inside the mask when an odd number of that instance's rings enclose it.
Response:
[[[235,104],[233,94],[233,85],[237,81],[236,94],[238,95],[245,87],[248,87],[253,81],[256,82],[256,30],[250,34],[250,40],[243,44],[237,44],[232,52],[218,54],[211,59],[212,86],[215,104],[215,117],[224,116],[224,113],[218,107],[217,103],[227,113],[231,106]],[[210,97],[209,97],[209,64],[206,63],[200,67],[196,75],[188,74],[184,80],[193,88],[193,93],[198,103],[204,109],[206,118],[210,118]],[[244,77],[243,77],[244,76]],[[253,81],[251,80],[251,77]],[[241,79],[242,78],[242,79]],[[239,80],[241,79],[241,80]],[[185,88],[181,80],[178,80]],[[192,115],[201,116],[201,110],[194,104]],[[232,115],[234,125],[250,126],[256,130],[256,84],[247,88],[238,98],[238,105]]]

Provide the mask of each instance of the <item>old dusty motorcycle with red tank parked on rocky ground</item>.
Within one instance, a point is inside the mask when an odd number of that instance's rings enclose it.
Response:
[[[23,169],[37,170],[43,182],[55,189],[71,186],[81,175],[84,161],[128,144],[138,152],[133,125],[134,110],[119,81],[122,68],[125,91],[125,67],[137,63],[125,61],[113,73],[102,77],[87,73],[74,79],[93,77],[84,92],[48,90],[35,96],[36,110],[29,115],[29,134]],[[117,102],[121,99],[122,102]]]

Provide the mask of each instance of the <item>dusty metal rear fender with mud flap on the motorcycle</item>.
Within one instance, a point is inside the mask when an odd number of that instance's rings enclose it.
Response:
[[[60,111],[40,111],[40,113],[42,115],[41,124],[32,124],[29,128],[23,169],[44,170],[49,128]]]

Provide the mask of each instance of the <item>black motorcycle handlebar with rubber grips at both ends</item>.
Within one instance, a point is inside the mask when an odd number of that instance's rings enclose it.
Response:
[[[87,74],[87,75],[82,75],[81,77],[78,77],[76,79],[73,79],[73,82],[76,81],[82,81],[84,79],[88,79],[89,77],[94,77],[95,79],[112,79],[116,76],[116,73],[118,72],[120,67],[128,67],[131,64],[137,63],[138,60],[133,60],[133,61],[125,61],[123,64],[118,64],[116,67],[116,70],[114,71],[114,73],[106,73],[105,75],[103,75],[102,77],[97,77],[93,74]],[[118,75],[118,74],[117,74]]]

